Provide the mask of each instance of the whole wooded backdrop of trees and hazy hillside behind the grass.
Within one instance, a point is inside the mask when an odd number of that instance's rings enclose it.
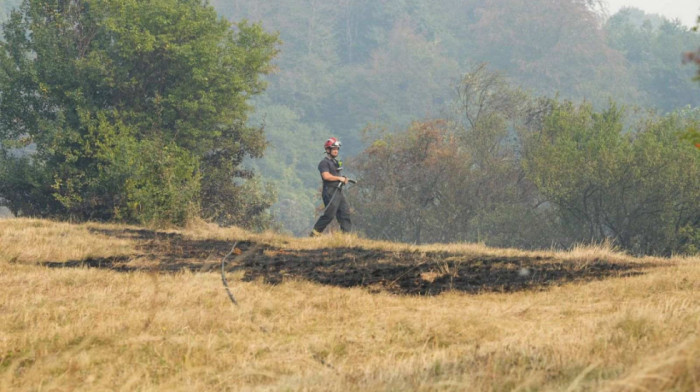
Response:
[[[25,1],[4,27],[0,197],[306,235],[336,136],[371,237],[700,247],[687,27],[593,0],[210,4]]]

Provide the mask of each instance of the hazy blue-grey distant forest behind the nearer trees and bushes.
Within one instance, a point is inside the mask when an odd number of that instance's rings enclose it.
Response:
[[[587,0],[211,4],[280,33],[278,71],[254,116],[270,145],[254,166],[278,191],[280,224],[297,234],[319,203],[316,163],[327,137],[354,156],[371,142],[362,140],[368,126],[397,130],[441,117],[457,81],[482,63],[536,96],[658,113],[700,106],[695,68],[681,64],[699,34],[634,8],[606,17]]]

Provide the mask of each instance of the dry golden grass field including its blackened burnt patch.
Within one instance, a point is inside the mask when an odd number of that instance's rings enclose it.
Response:
[[[698,331],[698,257],[0,220],[2,391],[700,391]]]

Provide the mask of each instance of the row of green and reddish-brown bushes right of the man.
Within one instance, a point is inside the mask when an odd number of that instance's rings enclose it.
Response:
[[[636,120],[611,104],[535,100],[483,68],[452,121],[379,135],[354,165],[370,237],[538,248],[612,241],[639,254],[700,248],[700,154],[685,110]]]

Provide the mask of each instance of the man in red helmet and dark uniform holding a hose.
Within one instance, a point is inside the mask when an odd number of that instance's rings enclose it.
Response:
[[[326,226],[333,221],[333,218],[338,219],[340,230],[347,233],[352,228],[350,222],[350,207],[343,196],[343,185],[348,183],[348,178],[340,175],[342,163],[338,161],[338,153],[340,152],[340,141],[332,137],[326,140],[323,145],[326,149],[326,157],[318,164],[318,171],[323,179],[323,204],[326,209],[323,210],[323,215],[318,218],[311,236],[321,235]]]

